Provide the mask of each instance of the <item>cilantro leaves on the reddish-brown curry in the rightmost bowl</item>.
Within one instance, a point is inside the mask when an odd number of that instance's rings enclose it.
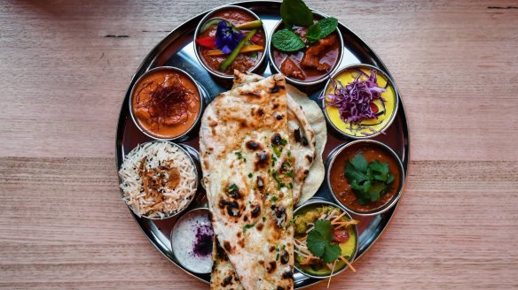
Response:
[[[387,163],[374,160],[369,164],[360,153],[347,162],[345,176],[360,204],[376,202],[394,181],[394,175],[390,174]]]

